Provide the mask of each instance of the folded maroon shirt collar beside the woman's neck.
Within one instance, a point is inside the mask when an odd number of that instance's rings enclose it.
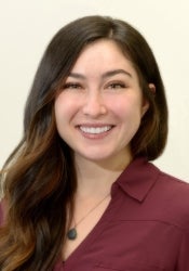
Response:
[[[116,183],[131,197],[143,202],[156,183],[160,170],[145,157],[134,159]]]

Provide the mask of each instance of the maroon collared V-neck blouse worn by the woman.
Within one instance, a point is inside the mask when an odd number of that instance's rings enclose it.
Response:
[[[54,271],[189,271],[189,184],[135,159],[98,223]]]

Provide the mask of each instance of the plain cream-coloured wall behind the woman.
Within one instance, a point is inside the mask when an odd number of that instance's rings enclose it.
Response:
[[[0,167],[22,137],[25,101],[50,39],[93,14],[127,21],[152,48],[170,107],[168,143],[154,164],[189,181],[188,0],[0,0]]]

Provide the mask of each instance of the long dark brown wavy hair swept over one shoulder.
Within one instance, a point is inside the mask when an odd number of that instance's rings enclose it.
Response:
[[[63,27],[39,64],[24,116],[24,136],[2,173],[6,215],[0,230],[0,269],[52,270],[66,235],[67,207],[77,189],[70,147],[59,138],[54,100],[82,49],[94,40],[112,39],[135,66],[149,109],[132,140],[133,156],[157,158],[167,136],[164,87],[153,53],[130,24],[86,16]],[[156,94],[149,90],[156,86]]]

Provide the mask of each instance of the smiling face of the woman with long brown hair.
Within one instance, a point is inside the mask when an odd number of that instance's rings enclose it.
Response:
[[[148,103],[132,63],[111,40],[85,47],[55,100],[62,139],[77,158],[127,160]]]

